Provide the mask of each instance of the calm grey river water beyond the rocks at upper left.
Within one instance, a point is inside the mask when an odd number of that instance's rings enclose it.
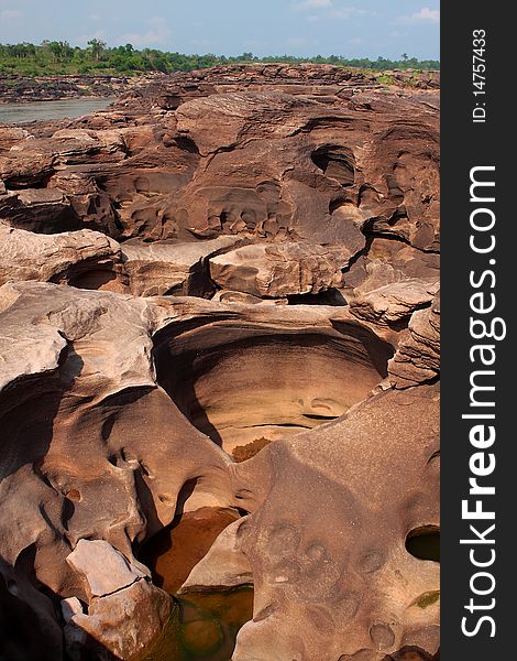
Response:
[[[51,119],[75,119],[107,108],[113,99],[69,99],[0,104],[0,123],[29,123]]]

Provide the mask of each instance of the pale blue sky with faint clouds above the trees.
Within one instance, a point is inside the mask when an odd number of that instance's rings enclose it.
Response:
[[[0,42],[182,53],[439,57],[438,0],[0,0]]]

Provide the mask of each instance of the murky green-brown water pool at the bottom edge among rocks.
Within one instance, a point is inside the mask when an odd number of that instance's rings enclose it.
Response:
[[[142,661],[230,661],[239,629],[253,617],[253,588],[189,593]]]

